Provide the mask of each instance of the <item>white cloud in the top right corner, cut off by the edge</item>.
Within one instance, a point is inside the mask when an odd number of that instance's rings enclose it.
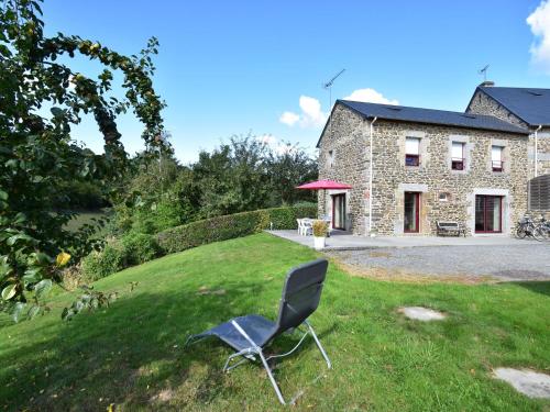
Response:
[[[543,0],[527,18],[535,42],[531,44],[531,63],[550,75],[550,0]]]

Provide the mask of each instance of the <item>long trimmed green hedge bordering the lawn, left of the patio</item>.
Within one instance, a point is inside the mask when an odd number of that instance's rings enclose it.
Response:
[[[296,219],[317,215],[316,205],[262,209],[227,214],[176,226],[157,234],[165,253],[175,253],[212,242],[248,236],[265,229],[297,229]]]

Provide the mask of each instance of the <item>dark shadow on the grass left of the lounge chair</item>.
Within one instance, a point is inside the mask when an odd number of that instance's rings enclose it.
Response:
[[[257,282],[223,287],[223,296],[135,292],[68,323],[59,320],[59,325],[43,330],[37,325],[33,333],[45,338],[0,357],[2,365],[18,365],[9,372],[0,370],[0,409],[97,411],[110,403],[147,409],[152,393],[185,385],[193,363],[200,364],[202,380],[194,377],[194,394],[185,402],[193,405],[216,397],[223,386],[221,366],[212,358],[222,355],[221,346],[207,345],[190,356],[185,339],[229,318],[253,313],[257,307],[248,308],[244,298],[257,297],[263,289]]]

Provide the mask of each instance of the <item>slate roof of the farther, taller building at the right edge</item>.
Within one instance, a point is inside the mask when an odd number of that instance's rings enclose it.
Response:
[[[530,126],[550,125],[550,89],[494,86],[479,86],[477,89]]]

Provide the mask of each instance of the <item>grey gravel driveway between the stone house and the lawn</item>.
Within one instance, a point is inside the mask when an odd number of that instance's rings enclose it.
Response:
[[[331,250],[328,256],[359,269],[421,276],[550,280],[550,244],[425,246]]]

